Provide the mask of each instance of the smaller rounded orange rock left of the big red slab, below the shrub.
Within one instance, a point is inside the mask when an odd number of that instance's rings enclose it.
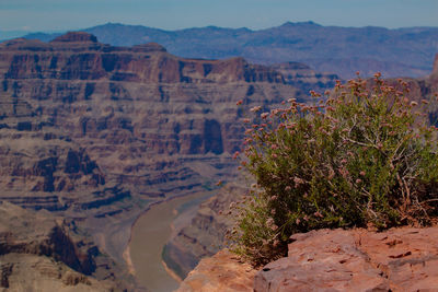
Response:
[[[227,249],[199,265],[175,292],[252,292],[256,270]]]

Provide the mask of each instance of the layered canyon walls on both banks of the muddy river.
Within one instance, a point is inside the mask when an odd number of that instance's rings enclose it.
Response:
[[[0,287],[147,291],[124,257],[136,220],[173,198],[216,195],[174,222],[163,249],[184,278],[224,246],[228,206],[245,191],[232,184],[246,184],[232,155],[249,109],[311,103],[309,90],[332,89],[338,77],[299,62],[181,58],[155,43],[117,47],[77,32],[1,43],[0,79]],[[438,57],[431,74],[405,80],[413,100],[433,98]],[[427,115],[434,122],[436,107]]]

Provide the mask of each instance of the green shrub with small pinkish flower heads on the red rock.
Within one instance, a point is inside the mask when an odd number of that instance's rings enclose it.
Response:
[[[264,265],[293,233],[424,225],[437,215],[437,128],[403,81],[390,86],[376,74],[371,83],[338,83],[314,105],[290,100],[246,130],[242,164],[256,186],[239,207],[237,253]]]

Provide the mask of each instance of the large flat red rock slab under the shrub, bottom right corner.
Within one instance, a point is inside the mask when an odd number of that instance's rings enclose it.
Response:
[[[257,272],[254,291],[430,291],[438,227],[296,234],[288,257]]]

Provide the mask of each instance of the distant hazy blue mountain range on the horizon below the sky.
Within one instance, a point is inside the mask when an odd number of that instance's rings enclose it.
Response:
[[[438,27],[357,28],[287,22],[260,31],[216,26],[163,31],[107,23],[83,31],[113,46],[154,42],[171,54],[185,58],[241,56],[264,65],[299,61],[343,78],[351,78],[356,71],[362,75],[376,71],[384,77],[426,75],[438,52]],[[57,36],[59,34],[37,33],[25,37],[50,40]]]

